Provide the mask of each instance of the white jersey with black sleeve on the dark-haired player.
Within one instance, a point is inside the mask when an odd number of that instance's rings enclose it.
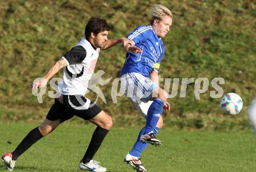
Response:
[[[82,38],[76,46],[62,58],[68,64],[63,69],[63,82],[59,83],[59,93],[64,95],[84,95],[93,75],[99,56],[99,48]]]

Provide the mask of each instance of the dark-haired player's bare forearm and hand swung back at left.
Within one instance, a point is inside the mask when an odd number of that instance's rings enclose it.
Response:
[[[44,75],[43,79],[37,80],[36,82],[32,83],[31,87],[44,87],[48,80],[54,76],[61,68],[65,67],[67,65],[66,61],[61,58],[58,60],[52,67],[49,69],[47,74]]]

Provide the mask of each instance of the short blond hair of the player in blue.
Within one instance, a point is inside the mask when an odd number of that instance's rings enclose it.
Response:
[[[152,25],[154,23],[155,19],[162,20],[163,17],[167,15],[170,18],[172,18],[172,12],[168,8],[166,8],[163,5],[154,4],[152,6],[152,13],[151,13],[151,21],[150,24]]]

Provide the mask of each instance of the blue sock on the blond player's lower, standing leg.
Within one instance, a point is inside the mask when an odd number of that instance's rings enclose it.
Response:
[[[154,134],[157,134],[158,130],[159,130],[159,128],[155,127]],[[131,151],[130,151],[131,156],[136,156],[136,157],[140,156],[141,152],[144,151],[144,149],[148,147],[148,143],[143,144],[143,142],[140,141],[140,137],[144,133],[144,131],[145,131],[145,127],[143,127],[143,129],[141,129],[141,131],[140,131],[140,134],[138,134],[137,141],[134,144],[133,149],[131,149]]]

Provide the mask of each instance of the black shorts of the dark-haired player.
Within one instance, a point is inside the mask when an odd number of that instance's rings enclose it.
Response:
[[[61,122],[71,119],[74,115],[83,118],[84,120],[89,120],[94,118],[101,112],[96,104],[94,104],[88,98],[81,95],[62,95],[63,102],[55,98],[55,102],[46,116],[48,120],[58,120]]]

